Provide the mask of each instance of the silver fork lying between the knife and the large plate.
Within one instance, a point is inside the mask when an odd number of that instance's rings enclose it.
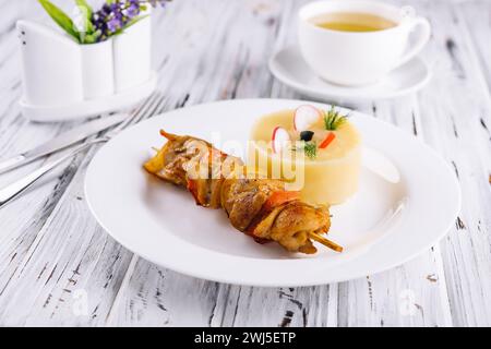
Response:
[[[112,139],[120,131],[124,130],[129,125],[135,124],[143,119],[147,119],[155,113],[160,108],[164,97],[158,94],[152,94],[128,119],[121,122],[119,125],[108,131],[106,134],[97,136],[96,139],[89,140],[88,142],[74,146],[71,151],[56,160],[43,165],[29,174],[17,179],[13,183],[8,184],[3,189],[0,189],[0,207],[5,205],[12,198],[21,194],[33,183],[35,183],[39,178],[48,173],[50,170],[56,168],[58,165],[62,164],[67,159],[75,156],[76,154],[89,148],[91,146],[98,143],[106,143]]]

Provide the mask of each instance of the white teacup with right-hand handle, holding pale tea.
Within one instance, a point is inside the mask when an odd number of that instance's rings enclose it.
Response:
[[[306,62],[322,79],[340,85],[375,83],[393,69],[404,64],[428,43],[428,20],[415,16],[410,8],[373,1],[316,1],[299,11],[299,44]],[[312,17],[335,12],[375,14],[396,25],[374,32],[326,29]],[[414,43],[408,47],[411,32]]]

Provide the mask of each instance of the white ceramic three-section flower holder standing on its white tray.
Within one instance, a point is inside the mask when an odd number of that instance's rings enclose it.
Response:
[[[23,107],[29,113],[58,106],[83,108],[87,103],[107,109],[106,100],[152,89],[151,26],[146,16],[106,41],[80,45],[59,29],[19,21]],[[97,107],[92,107],[94,112]]]

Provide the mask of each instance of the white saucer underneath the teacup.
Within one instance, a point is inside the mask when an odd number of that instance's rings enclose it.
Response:
[[[336,85],[316,76],[297,47],[275,53],[270,60],[270,70],[280,82],[307,96],[335,101],[393,98],[420,89],[431,77],[428,65],[414,58],[376,84],[361,87]]]

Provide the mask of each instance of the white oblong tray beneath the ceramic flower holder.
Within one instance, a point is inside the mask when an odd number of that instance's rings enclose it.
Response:
[[[148,97],[148,95],[154,92],[156,84],[157,74],[152,72],[147,82],[110,96],[86,99],[61,106],[36,106],[27,104],[24,99],[21,99],[19,104],[24,117],[31,121],[68,121],[131,107]]]

